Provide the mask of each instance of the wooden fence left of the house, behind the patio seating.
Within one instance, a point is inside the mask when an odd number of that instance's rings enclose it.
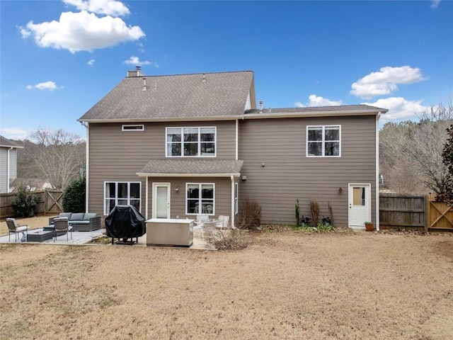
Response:
[[[63,191],[61,190],[40,190],[34,191],[37,204],[36,215],[58,214],[63,211],[62,200]],[[0,193],[0,218],[14,216],[13,200],[16,193]]]

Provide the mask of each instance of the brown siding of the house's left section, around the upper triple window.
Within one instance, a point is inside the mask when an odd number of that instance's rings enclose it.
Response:
[[[103,213],[104,181],[140,181],[144,214],[145,180],[138,177],[137,172],[150,159],[166,158],[168,126],[217,126],[217,159],[236,157],[234,121],[144,123],[144,131],[122,131],[120,123],[90,124],[88,199],[91,212]]]

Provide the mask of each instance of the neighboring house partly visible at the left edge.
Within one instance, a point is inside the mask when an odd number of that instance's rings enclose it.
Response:
[[[0,136],[0,193],[10,193],[10,183],[17,178],[17,149],[23,149]]]

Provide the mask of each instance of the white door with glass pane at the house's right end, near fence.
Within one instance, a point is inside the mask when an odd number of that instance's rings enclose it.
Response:
[[[349,184],[349,227],[361,227],[371,221],[371,184]]]

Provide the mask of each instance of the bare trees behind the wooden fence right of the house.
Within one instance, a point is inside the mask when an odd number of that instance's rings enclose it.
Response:
[[[420,115],[418,123],[386,123],[379,134],[380,170],[389,188],[401,193],[440,192],[447,168],[442,163],[446,129],[453,123],[451,101]]]

